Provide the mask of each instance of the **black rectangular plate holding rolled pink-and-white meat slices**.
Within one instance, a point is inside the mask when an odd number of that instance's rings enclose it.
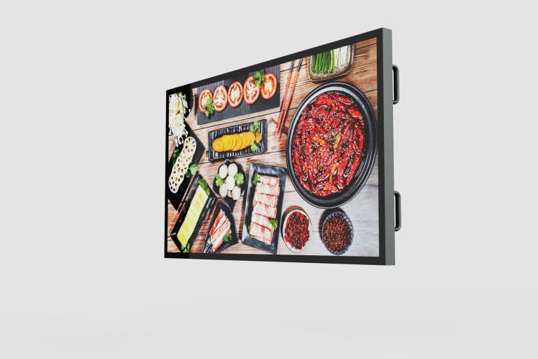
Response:
[[[273,231],[273,241],[270,245],[267,245],[257,239],[251,238],[249,235],[249,230],[247,226],[250,224],[250,219],[252,216],[252,203],[254,201],[254,191],[255,186],[252,184],[252,176],[254,172],[258,172],[258,175],[268,175],[273,177],[278,177],[280,179],[280,193],[277,200],[277,221],[279,228]],[[247,197],[244,205],[244,221],[243,221],[243,238],[242,243],[250,245],[254,248],[259,248],[261,250],[266,250],[267,252],[277,254],[277,245],[278,245],[278,236],[280,233],[280,226],[282,225],[282,203],[284,203],[284,190],[286,189],[286,175],[287,170],[283,167],[277,167],[273,165],[260,165],[258,163],[251,163],[249,168],[249,182],[247,186]]]

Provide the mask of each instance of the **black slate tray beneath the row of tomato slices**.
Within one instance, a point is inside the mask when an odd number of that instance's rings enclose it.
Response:
[[[247,104],[247,102],[244,102],[244,97],[239,106],[237,107],[231,107],[230,104],[226,106],[226,109],[222,112],[214,111],[214,113],[207,118],[205,114],[203,114],[200,109],[198,109],[198,96],[196,97],[196,101],[193,104],[193,106],[196,107],[196,122],[198,125],[203,125],[204,123],[211,123],[216,121],[225,120],[226,118],[233,118],[237,116],[242,116],[246,114],[254,114],[255,112],[259,111],[265,111],[267,109],[274,109],[277,107],[280,107],[280,65],[274,65],[271,67],[265,67],[265,73],[273,72],[275,76],[277,76],[277,81],[279,81],[277,86],[277,92],[273,97],[271,97],[269,100],[265,100],[261,95],[258,97],[258,100],[254,102],[254,104]],[[223,81],[218,81],[214,83],[210,83],[209,85],[200,86],[197,88],[197,93],[200,95],[202,93],[202,90],[208,89],[211,91],[211,93],[214,92],[215,88],[218,86],[223,85],[226,88],[226,91],[229,90],[230,85],[237,81],[241,83],[241,86],[244,85],[244,81],[247,79],[247,77],[251,76],[253,72],[249,72],[248,74],[243,74],[242,76],[237,76],[235,79],[226,79]]]

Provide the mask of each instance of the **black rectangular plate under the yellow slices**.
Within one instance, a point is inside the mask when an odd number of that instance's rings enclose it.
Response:
[[[254,156],[256,154],[263,154],[267,151],[267,120],[258,121],[260,123],[260,133],[261,141],[258,143],[258,151],[251,151],[250,147],[242,149],[241,151],[226,151],[226,152],[216,152],[213,151],[213,140],[222,135],[233,135],[234,133],[242,133],[250,130],[251,123],[245,123],[244,125],[229,126],[225,128],[219,128],[219,130],[211,131],[207,133],[207,153],[209,161],[219,161],[226,158],[237,158],[243,156]]]

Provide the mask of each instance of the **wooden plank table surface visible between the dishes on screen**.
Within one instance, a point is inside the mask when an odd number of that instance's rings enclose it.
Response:
[[[297,61],[296,61],[297,64]],[[286,126],[289,126],[291,118],[293,118],[295,111],[301,101],[315,88],[322,85],[322,83],[314,83],[308,78],[308,62],[303,60],[301,71],[298,76],[295,92],[293,94],[289,111],[286,118]],[[284,90],[286,86],[287,77],[289,76],[289,70],[291,62],[286,62],[280,65],[280,96],[281,103],[284,96]],[[353,86],[359,88],[371,104],[375,118],[378,118],[378,91],[377,91],[377,46],[375,39],[367,41],[361,41],[354,45],[354,59],[352,68],[345,76],[336,79],[336,81],[343,81],[351,83]],[[296,71],[296,70],[295,70]],[[331,81],[331,80],[329,80]],[[327,82],[329,82],[327,81]],[[261,99],[261,97],[260,97]],[[196,104],[194,105],[196,107]],[[198,110],[198,109],[196,109]],[[187,118],[187,123],[193,129],[195,135],[206,147],[205,154],[202,156],[200,163],[198,163],[198,171],[207,180],[209,187],[212,187],[216,172],[221,165],[222,161],[209,162],[207,156],[207,133],[218,128],[224,128],[233,125],[240,125],[242,123],[251,123],[254,121],[261,121],[263,119],[278,118],[280,109],[270,109],[262,112],[256,112],[256,114],[248,114],[244,116],[237,116],[234,118],[228,118],[223,121],[207,123],[205,125],[198,126],[196,123],[196,116],[194,111],[191,111]],[[249,166],[251,163],[261,163],[264,165],[276,165],[280,167],[287,167],[286,165],[286,142],[287,135],[282,133],[281,137],[275,143],[275,131],[276,125],[272,121],[268,121],[268,151],[264,154],[235,158],[233,161],[240,163],[247,177],[249,175]],[[174,151],[174,140],[172,136],[168,139],[168,156],[172,156]],[[235,204],[233,210],[233,216],[235,217],[235,226],[237,227],[237,235],[242,238],[243,230],[243,217],[244,217],[244,197],[247,191],[239,198]],[[181,204],[183,205],[183,204]],[[181,205],[179,209],[181,210]],[[282,220],[279,222],[279,243],[277,246],[277,255],[332,255],[326,250],[321,240],[321,226],[322,220],[326,216],[326,211],[323,208],[316,208],[299,196],[291,183],[291,179],[287,176],[286,188],[284,193],[284,203],[282,205],[282,219],[285,215],[293,209],[301,208],[310,217],[312,222],[312,238],[305,246],[303,252],[294,253],[287,248],[287,245],[282,239],[281,225]],[[374,256],[379,255],[379,218],[378,218],[378,158],[375,157],[373,170],[366,182],[366,185],[361,189],[359,194],[355,196],[352,201],[346,203],[340,207],[350,217],[353,224],[354,238],[349,250],[345,252],[346,256]],[[213,217],[214,210],[209,212],[205,221],[202,224],[195,242],[191,248],[191,252],[201,252],[204,246],[205,236],[207,229],[209,228],[209,221]],[[179,248],[175,245],[174,241],[170,238],[170,231],[177,222],[179,213],[168,202],[168,252],[179,252]],[[267,254],[263,250],[258,250],[249,245],[243,245],[238,243],[236,245],[223,250],[223,253],[242,253],[242,254]]]

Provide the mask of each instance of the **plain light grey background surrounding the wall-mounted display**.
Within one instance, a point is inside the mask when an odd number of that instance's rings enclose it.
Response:
[[[228,3],[1,6],[0,357],[536,358],[535,9]],[[163,259],[165,90],[382,26],[396,266]]]

